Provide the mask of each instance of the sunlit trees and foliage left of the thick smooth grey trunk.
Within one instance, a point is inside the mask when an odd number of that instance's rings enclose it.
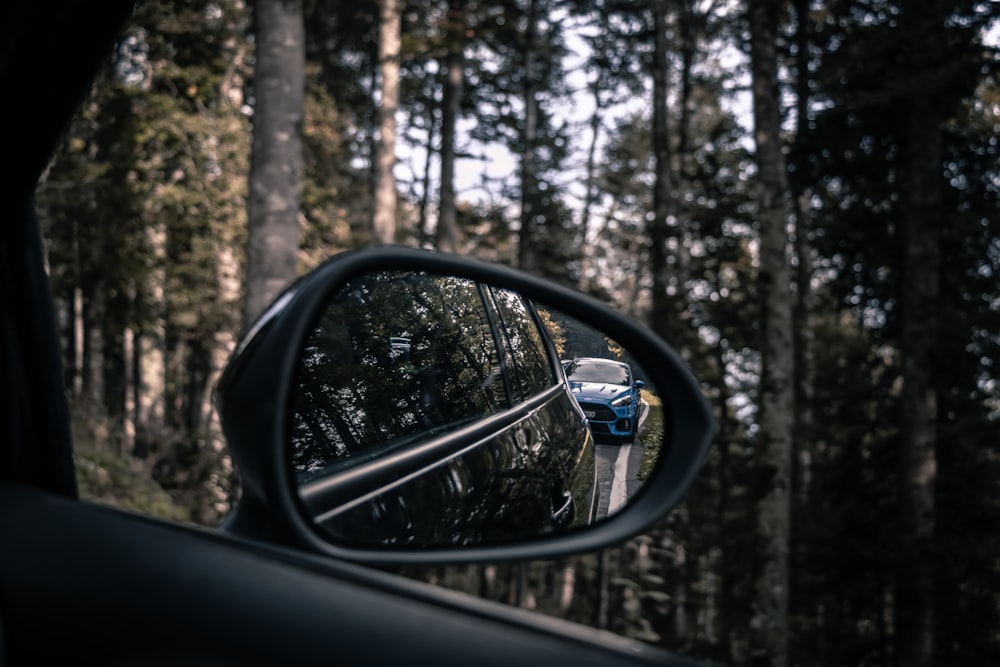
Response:
[[[123,502],[169,488],[205,523],[231,483],[207,405],[241,325],[246,20],[235,2],[140,5],[38,192],[74,405],[133,457],[94,449],[81,470]]]

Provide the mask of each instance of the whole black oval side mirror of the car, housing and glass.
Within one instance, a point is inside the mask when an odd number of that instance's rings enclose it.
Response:
[[[603,442],[602,407],[574,398],[560,361],[602,344],[626,350],[662,404],[645,433],[645,401],[607,417],[656,459],[616,501],[601,462],[622,443]],[[645,327],[505,266],[398,247],[338,255],[289,287],[216,403],[243,481],[224,529],[385,565],[624,540],[681,500],[715,429],[686,365]]]

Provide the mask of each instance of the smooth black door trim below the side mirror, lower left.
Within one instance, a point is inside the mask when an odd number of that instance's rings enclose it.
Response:
[[[0,484],[0,534],[17,536],[0,549],[12,665],[696,664],[398,575],[26,486]]]

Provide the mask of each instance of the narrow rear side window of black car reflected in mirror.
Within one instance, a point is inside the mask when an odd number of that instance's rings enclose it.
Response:
[[[524,298],[507,290],[492,290],[492,293],[514,389],[518,400],[524,401],[555,383],[552,364]]]

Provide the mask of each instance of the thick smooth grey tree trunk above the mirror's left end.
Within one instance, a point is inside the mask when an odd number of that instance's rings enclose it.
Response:
[[[297,274],[305,28],[300,0],[258,0],[245,324]]]

